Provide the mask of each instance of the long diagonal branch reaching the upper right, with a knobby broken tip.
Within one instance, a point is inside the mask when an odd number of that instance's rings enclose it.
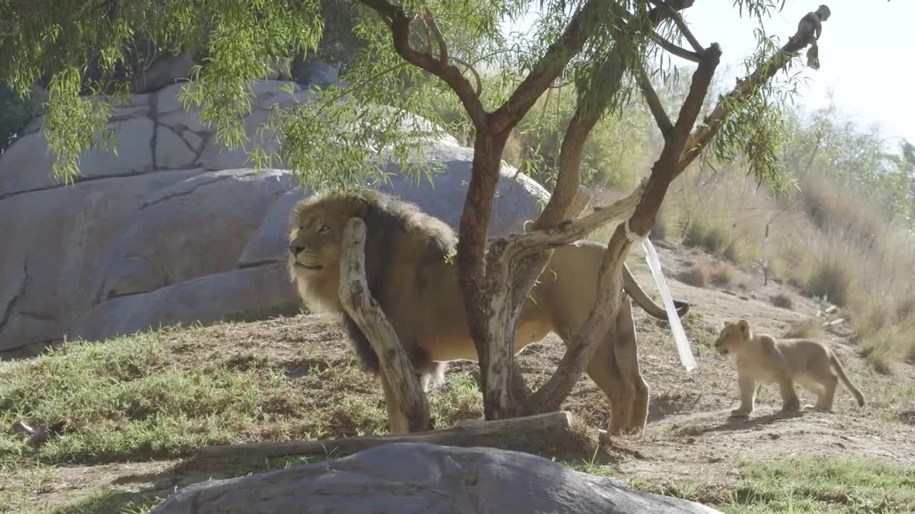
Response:
[[[678,174],[702,153],[708,142],[718,133],[721,123],[733,110],[732,105],[734,103],[752,95],[761,84],[771,80],[776,73],[783,69],[795,57],[796,52],[816,41],[816,37],[822,28],[819,23],[821,20],[817,19],[816,23],[805,22],[812,15],[814,13],[805,15],[798,24],[797,32],[789,38],[788,42],[779,51],[759,65],[759,68],[753,70],[747,78],[737,80],[737,86],[718,101],[712,113],[705,118],[705,123],[696,128],[695,133],[690,136],[684,155],[677,165]],[[822,21],[825,20],[823,19]]]

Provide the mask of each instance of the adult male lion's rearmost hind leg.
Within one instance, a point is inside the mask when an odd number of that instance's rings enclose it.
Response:
[[[623,381],[632,386],[628,397],[623,402],[628,402],[629,419],[621,421],[622,430],[630,434],[637,434],[645,430],[648,423],[648,403],[650,389],[648,382],[641,376],[639,366],[639,339],[635,333],[635,322],[632,320],[632,301],[629,295],[623,293],[619,299],[617,312],[617,333],[609,334],[609,342],[616,339],[614,350],[617,354],[619,370],[623,374]]]

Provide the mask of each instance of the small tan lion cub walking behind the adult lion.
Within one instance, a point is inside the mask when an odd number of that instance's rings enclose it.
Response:
[[[794,391],[794,382],[817,395],[817,411],[833,410],[835,386],[842,380],[855,395],[858,406],[864,406],[864,395],[845,376],[845,369],[835,353],[822,344],[807,339],[782,339],[754,334],[746,319],[726,323],[715,341],[715,349],[725,355],[737,356],[737,384],[740,387],[740,407],[731,416],[744,417],[753,412],[756,402],[756,382],[777,383],[781,391],[781,411],[799,411],[801,402]],[[804,409],[810,409],[805,405]]]

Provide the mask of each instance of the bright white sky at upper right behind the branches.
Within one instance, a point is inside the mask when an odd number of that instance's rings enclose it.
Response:
[[[862,126],[879,123],[885,136],[915,143],[915,37],[910,32],[915,32],[915,0],[787,0],[765,20],[766,32],[783,44],[801,17],[821,3],[829,5],[832,16],[823,23],[820,70],[803,72],[806,79],[795,102],[813,109],[826,104],[832,90],[843,115]],[[746,13],[741,18],[732,5],[733,0],[695,0],[684,11],[699,42],[706,47],[717,42],[724,51],[717,75],[727,77],[725,84],[743,74],[742,60],[755,48],[753,29],[758,26]],[[528,16],[511,30],[529,27],[533,19]],[[898,147],[890,145],[891,150]]]

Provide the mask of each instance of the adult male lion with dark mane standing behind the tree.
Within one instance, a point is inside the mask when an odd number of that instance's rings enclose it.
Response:
[[[339,303],[339,259],[343,228],[350,218],[366,225],[365,273],[371,295],[381,305],[397,337],[420,373],[424,388],[440,378],[444,362],[478,360],[469,335],[455,265],[457,237],[442,220],[415,205],[376,193],[374,198],[331,194],[305,198],[291,213],[288,270],[310,308],[338,314],[364,367],[378,373],[378,357],[360,328]],[[522,307],[515,347],[555,332],[568,344],[587,320],[597,294],[597,273],[607,247],[591,241],[559,247]],[[651,316],[667,319],[623,268],[626,293]],[[689,305],[679,303],[684,316]],[[608,334],[587,366],[587,375],[608,396],[610,430],[639,431],[648,415],[648,384],[636,354],[629,298],[620,302],[617,332]],[[382,386],[385,386],[382,380]],[[390,412],[389,406],[389,412]],[[403,426],[391,426],[402,433]]]

